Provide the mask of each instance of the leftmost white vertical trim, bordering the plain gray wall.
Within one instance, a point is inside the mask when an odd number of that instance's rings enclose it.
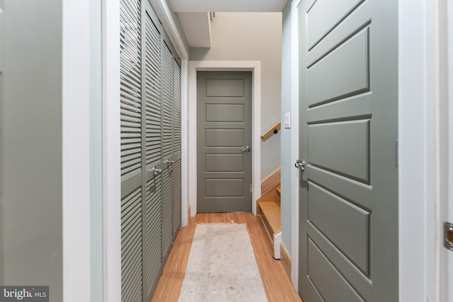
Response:
[[[90,301],[90,5],[63,1],[63,300]],[[77,294],[74,294],[77,293]]]

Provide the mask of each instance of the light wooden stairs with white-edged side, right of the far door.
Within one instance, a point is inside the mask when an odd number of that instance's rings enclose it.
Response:
[[[280,175],[277,185],[261,195],[257,201],[257,206],[257,214],[263,221],[274,246],[274,258],[280,259],[280,243],[282,241],[282,232],[280,231]]]

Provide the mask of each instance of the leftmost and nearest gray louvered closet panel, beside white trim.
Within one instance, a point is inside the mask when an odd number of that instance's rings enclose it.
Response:
[[[121,299],[142,301],[142,70],[139,0],[120,1]]]

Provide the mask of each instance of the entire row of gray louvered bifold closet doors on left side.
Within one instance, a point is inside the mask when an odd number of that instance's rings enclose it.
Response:
[[[121,296],[149,302],[180,228],[180,60],[149,1],[120,21]]]

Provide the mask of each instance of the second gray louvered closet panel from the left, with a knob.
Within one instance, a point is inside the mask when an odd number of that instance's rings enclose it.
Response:
[[[148,2],[144,13],[144,79],[146,128],[146,241],[144,243],[144,293],[151,301],[162,272],[161,252],[161,175],[153,175],[153,168],[161,168],[161,33],[159,24]]]

